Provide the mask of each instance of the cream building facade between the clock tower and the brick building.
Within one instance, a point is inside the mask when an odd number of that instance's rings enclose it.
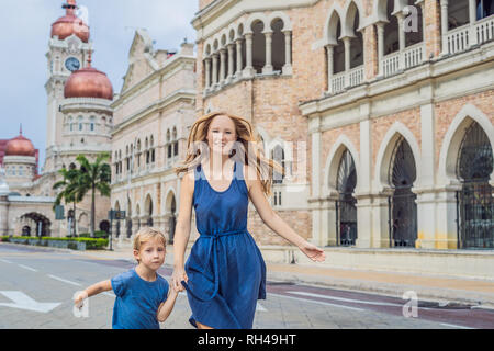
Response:
[[[155,49],[145,30],[135,33],[122,91],[111,105],[111,204],[126,213],[113,224],[121,245],[130,245],[143,226],[161,228],[172,242],[180,193],[173,167],[186,157],[195,120],[193,46]]]

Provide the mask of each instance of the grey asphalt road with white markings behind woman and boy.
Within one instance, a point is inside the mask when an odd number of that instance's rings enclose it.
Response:
[[[0,329],[109,329],[114,295],[89,299],[75,312],[76,292],[134,264],[63,251],[0,244]],[[169,280],[170,267],[159,273]],[[255,329],[492,329],[494,310],[269,282]],[[191,329],[187,296],[180,294],[164,329]]]

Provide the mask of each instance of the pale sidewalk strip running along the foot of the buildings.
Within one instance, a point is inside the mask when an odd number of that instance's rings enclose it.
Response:
[[[101,260],[134,261],[130,249],[114,251],[71,251],[74,254]],[[172,247],[167,248],[165,264],[173,264]],[[293,282],[340,290],[379,293],[402,298],[415,292],[419,301],[460,303],[494,308],[494,281],[453,279],[424,274],[370,270],[337,269],[317,263],[281,264],[267,262],[268,281]]]

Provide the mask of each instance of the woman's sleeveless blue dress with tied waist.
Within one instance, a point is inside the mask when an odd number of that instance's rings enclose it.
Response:
[[[193,206],[200,236],[186,262],[192,316],[215,329],[251,329],[257,299],[266,298],[266,264],[247,231],[248,192],[235,162],[227,190],[215,191],[201,166],[194,170]]]

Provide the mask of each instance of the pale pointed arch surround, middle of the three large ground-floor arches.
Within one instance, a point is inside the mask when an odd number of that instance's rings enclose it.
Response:
[[[393,158],[393,151],[395,149],[396,143],[404,138],[414,156],[415,167],[416,167],[416,180],[413,186],[420,184],[420,148],[414,136],[414,134],[401,122],[395,122],[391,128],[385,134],[381,146],[375,158],[375,169],[374,169],[374,182],[375,188],[379,192],[382,192],[385,188],[391,188],[389,182],[389,169]]]

